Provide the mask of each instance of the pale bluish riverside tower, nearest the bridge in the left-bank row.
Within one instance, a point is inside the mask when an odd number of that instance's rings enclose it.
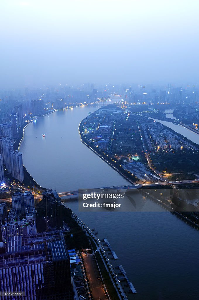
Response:
[[[18,150],[10,151],[10,153],[13,166],[12,176],[22,182],[24,179],[22,153]]]

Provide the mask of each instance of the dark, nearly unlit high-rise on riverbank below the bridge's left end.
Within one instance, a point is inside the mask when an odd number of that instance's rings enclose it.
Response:
[[[44,209],[47,220],[52,228],[63,227],[62,204],[58,193],[55,190],[48,189],[43,193]]]

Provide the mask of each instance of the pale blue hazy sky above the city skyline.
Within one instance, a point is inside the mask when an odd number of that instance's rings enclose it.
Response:
[[[0,87],[196,84],[198,10],[198,0],[0,0]]]

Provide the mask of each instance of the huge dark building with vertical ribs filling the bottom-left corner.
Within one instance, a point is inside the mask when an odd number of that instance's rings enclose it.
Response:
[[[0,256],[0,290],[24,291],[23,297],[17,297],[23,300],[73,300],[70,258],[62,232],[9,236],[7,253]]]

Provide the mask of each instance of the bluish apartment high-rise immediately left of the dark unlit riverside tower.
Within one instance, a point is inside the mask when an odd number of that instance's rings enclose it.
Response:
[[[12,195],[12,207],[16,209],[17,216],[26,214],[28,208],[34,207],[34,196],[32,192],[16,192]]]

